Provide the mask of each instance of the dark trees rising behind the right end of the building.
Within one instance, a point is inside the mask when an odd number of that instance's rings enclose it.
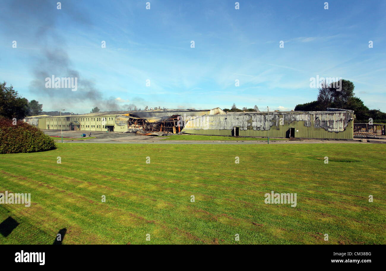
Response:
[[[354,83],[349,80],[342,80],[340,91],[337,91],[337,83],[327,84],[323,82],[318,88],[319,93],[316,101],[298,104],[295,111],[325,111],[328,107],[354,110],[355,122],[386,122],[386,113],[377,109],[369,109],[363,101],[355,96]]]

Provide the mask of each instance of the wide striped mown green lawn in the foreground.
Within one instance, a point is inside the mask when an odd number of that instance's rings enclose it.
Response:
[[[19,223],[0,244],[52,244],[61,229],[63,244],[386,244],[385,154],[383,144],[91,143],[0,154],[0,193],[32,201],[0,204],[0,223]],[[297,193],[297,206],[265,204],[271,190]]]

